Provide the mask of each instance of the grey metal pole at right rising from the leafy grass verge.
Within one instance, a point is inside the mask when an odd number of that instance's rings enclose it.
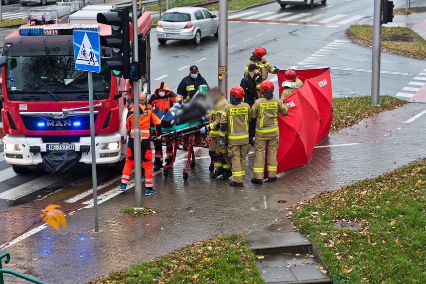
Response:
[[[380,50],[382,41],[382,0],[374,0],[373,58],[371,67],[371,104],[379,104]]]

